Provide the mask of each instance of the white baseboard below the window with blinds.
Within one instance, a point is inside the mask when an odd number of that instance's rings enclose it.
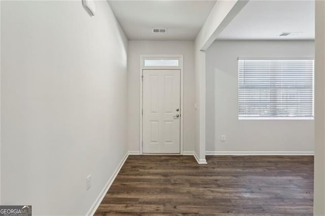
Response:
[[[253,152],[222,152],[222,151],[207,151],[206,155],[283,155],[283,156],[295,156],[295,155],[314,155],[314,152],[278,152],[278,151],[253,151]]]

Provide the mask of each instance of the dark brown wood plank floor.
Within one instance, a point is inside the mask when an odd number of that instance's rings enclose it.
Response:
[[[129,156],[95,215],[312,215],[312,156]]]

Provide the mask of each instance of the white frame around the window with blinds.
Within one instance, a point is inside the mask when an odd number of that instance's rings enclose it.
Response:
[[[240,60],[312,60],[313,62],[313,79],[312,79],[312,116],[308,117],[302,117],[302,116],[240,116],[239,114],[239,61]],[[280,57],[280,58],[274,58],[274,57],[238,57],[237,60],[237,115],[238,115],[238,120],[314,120],[315,118],[315,60],[313,57]]]

